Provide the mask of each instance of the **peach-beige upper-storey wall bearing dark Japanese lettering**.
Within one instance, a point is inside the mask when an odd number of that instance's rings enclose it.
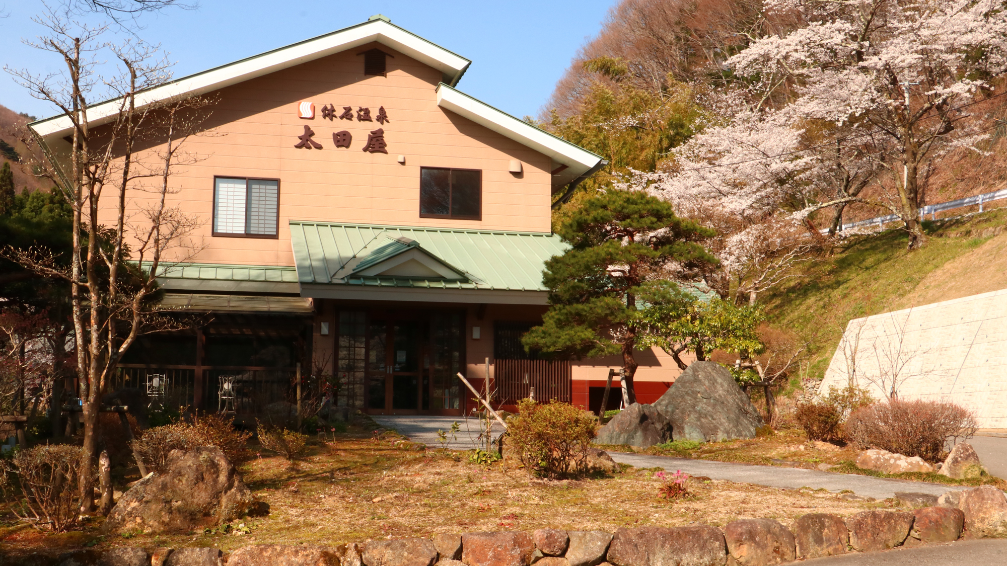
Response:
[[[372,47],[394,55],[388,77],[364,76],[356,53]],[[219,99],[205,123],[212,132],[185,143],[199,161],[179,167],[172,179],[178,192],[171,203],[202,224],[174,256],[194,250],[187,261],[293,265],[290,220],[549,232],[551,159],[439,108],[440,80],[440,72],[374,43],[211,93]],[[298,117],[302,101],[315,104],[313,120]],[[384,106],[390,122],[325,120],[321,107],[328,104],[339,112],[367,107],[372,117]],[[305,124],[322,149],[294,148]],[[362,151],[378,128],[385,130],[387,155]],[[348,149],[334,147],[332,133],[340,130],[352,134]],[[511,159],[523,162],[523,174],[508,171]],[[481,169],[482,220],[419,218],[421,166]],[[279,238],[211,237],[213,175],[279,178]],[[148,197],[131,191],[132,209],[149,204]],[[104,216],[112,222],[111,209]]]

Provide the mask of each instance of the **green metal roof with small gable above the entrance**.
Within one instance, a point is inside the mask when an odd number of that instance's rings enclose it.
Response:
[[[558,236],[549,233],[300,221],[290,222],[290,239],[301,284],[376,287],[548,291],[542,284],[545,261],[567,249]],[[409,248],[463,273],[464,279],[354,273],[364,264],[376,265]]]

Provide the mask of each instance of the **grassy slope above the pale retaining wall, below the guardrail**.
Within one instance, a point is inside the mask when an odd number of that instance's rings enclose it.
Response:
[[[1007,288],[1005,225],[1007,208],[928,223],[916,252],[898,230],[854,239],[761,299],[772,325],[808,340],[806,375],[820,378],[852,318]]]

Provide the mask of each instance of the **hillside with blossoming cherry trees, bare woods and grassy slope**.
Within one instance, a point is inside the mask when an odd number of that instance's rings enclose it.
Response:
[[[1007,288],[1007,214],[921,221],[1007,188],[1004,26],[995,0],[618,1],[536,122],[609,160],[554,224],[600,190],[667,199],[716,233],[704,282],[821,375],[850,318]]]

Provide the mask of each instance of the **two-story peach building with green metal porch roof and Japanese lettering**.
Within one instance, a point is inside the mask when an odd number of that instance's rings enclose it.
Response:
[[[254,414],[289,399],[300,365],[337,377],[339,406],[459,414],[475,404],[456,373],[482,387],[488,371],[501,404],[536,387],[596,409],[617,360],[529,360],[520,337],[564,250],[551,202],[602,158],[458,91],[469,63],[374,16],[143,93],[213,101],[168,196],[202,222],[159,273],[165,304],[208,315],[143,337],[116,387],[164,375],[176,403],[217,410],[235,376],[236,410]],[[63,117],[31,127],[68,144]],[[679,371],[660,350],[639,360],[654,401]]]

